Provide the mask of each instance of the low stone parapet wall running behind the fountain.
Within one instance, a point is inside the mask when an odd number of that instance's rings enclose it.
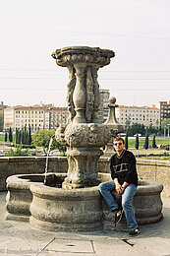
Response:
[[[6,190],[7,177],[15,174],[43,173],[46,158],[43,157],[11,157],[0,159],[0,190]],[[67,172],[67,158],[49,158],[48,172]],[[142,179],[157,181],[163,184],[162,195],[170,197],[170,161],[165,160],[137,160],[139,177]],[[109,159],[100,158],[98,171],[109,173]]]

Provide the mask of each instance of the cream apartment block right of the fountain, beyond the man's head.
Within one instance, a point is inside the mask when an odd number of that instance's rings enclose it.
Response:
[[[155,106],[125,106],[119,105],[115,108],[116,117],[120,124],[126,125],[127,121],[143,124],[144,127],[160,126],[160,110]]]

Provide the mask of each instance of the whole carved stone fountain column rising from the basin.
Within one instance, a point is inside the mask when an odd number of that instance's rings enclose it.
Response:
[[[97,162],[110,140],[110,130],[98,122],[100,104],[97,71],[110,63],[112,50],[71,46],[52,53],[59,66],[67,67],[70,122],[56,130],[56,140],[67,147],[68,174],[64,188],[99,184]]]

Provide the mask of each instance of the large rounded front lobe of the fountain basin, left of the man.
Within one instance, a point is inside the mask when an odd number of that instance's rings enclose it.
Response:
[[[61,189],[43,184],[30,186],[33,195],[29,223],[50,231],[102,229],[102,209],[97,187]]]

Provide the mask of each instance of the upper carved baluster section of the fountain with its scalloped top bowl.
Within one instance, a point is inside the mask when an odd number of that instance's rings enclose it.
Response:
[[[52,53],[57,65],[69,70],[67,102],[72,121],[98,122],[100,95],[97,71],[108,65],[114,55],[112,50],[87,46],[64,47]]]

